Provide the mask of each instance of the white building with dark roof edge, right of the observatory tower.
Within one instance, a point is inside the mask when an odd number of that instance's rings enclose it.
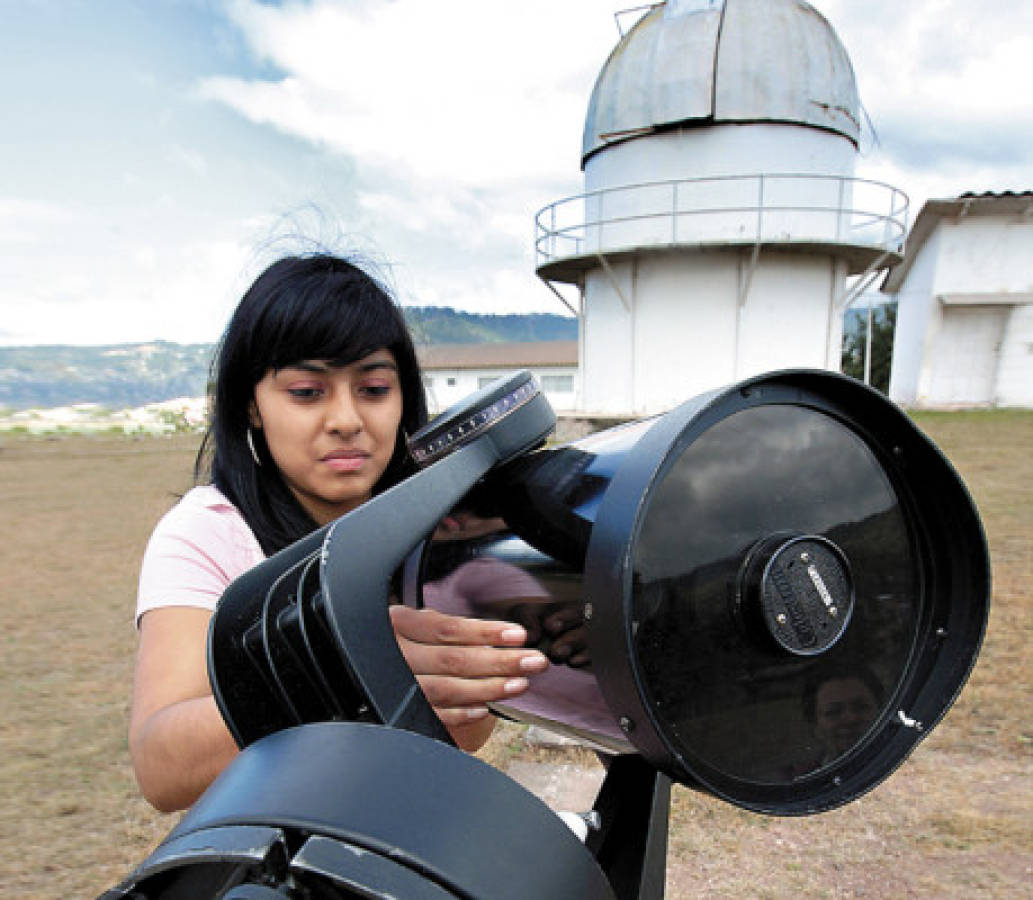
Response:
[[[891,400],[1033,407],[1033,191],[929,200],[882,290],[898,302]]]

